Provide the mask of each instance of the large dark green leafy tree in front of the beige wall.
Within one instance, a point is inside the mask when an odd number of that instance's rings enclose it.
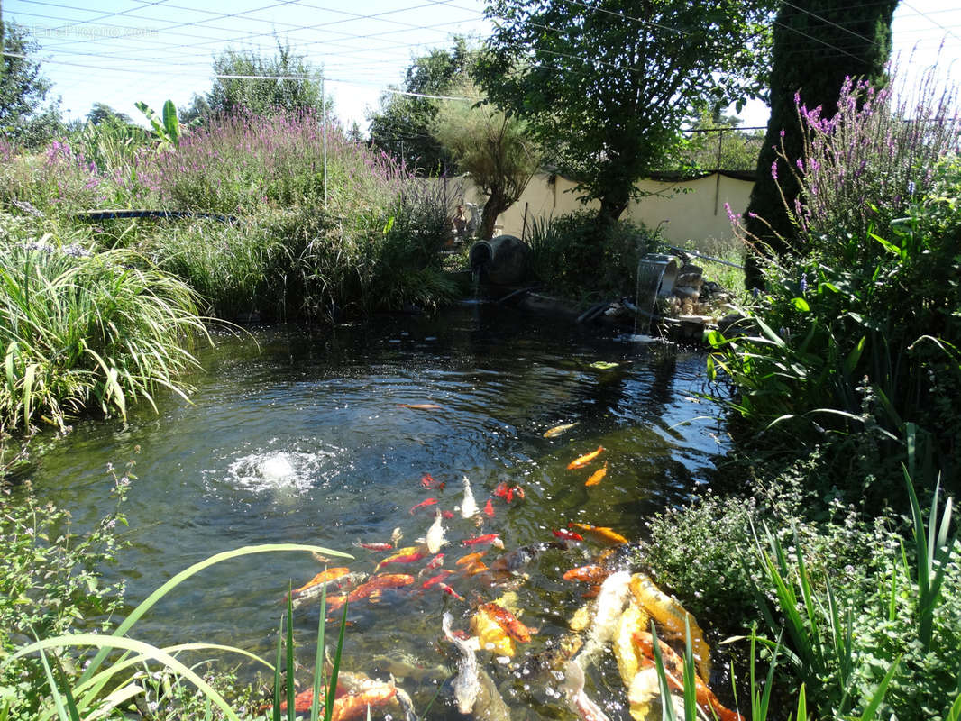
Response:
[[[479,77],[598,199],[599,237],[668,163],[684,121],[758,92],[771,0],[493,0]]]

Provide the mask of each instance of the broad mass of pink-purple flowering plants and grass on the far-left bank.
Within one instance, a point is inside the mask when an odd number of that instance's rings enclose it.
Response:
[[[237,307],[243,294],[281,318],[450,300],[456,288],[440,272],[449,228],[438,191],[336,125],[327,129],[326,156],[325,183],[324,129],[313,112],[212,120],[154,154],[144,182],[159,188],[164,207],[245,222],[224,233],[195,227],[159,236],[152,255],[218,310]],[[216,241],[191,253],[191,235],[201,245],[203,235]]]

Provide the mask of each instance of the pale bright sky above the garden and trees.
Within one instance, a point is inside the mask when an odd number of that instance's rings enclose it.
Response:
[[[2,2],[2,0],[0,0]],[[367,128],[382,93],[399,86],[412,58],[450,47],[457,34],[485,37],[481,0],[7,0],[4,19],[33,32],[43,74],[69,117],[104,103],[144,122],[135,102],[178,106],[213,82],[211,61],[231,47],[276,54],[288,43],[323,69],[334,113]],[[937,62],[961,72],[961,4],[900,2],[895,52],[917,72]],[[940,55],[939,55],[940,50]],[[913,55],[912,55],[913,53]],[[943,70],[947,76],[947,71]],[[763,103],[741,112],[746,126],[767,121]]]

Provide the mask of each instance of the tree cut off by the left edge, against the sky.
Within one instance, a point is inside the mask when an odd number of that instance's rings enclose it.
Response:
[[[28,146],[46,142],[62,129],[58,103],[43,107],[50,81],[40,74],[37,41],[15,23],[0,20],[3,51],[0,60],[0,129],[4,136]]]

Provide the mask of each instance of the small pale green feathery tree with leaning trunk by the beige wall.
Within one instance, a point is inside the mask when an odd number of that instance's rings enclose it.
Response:
[[[433,137],[487,196],[479,235],[494,235],[497,216],[517,202],[540,165],[527,123],[485,103],[480,89],[464,78],[449,90],[467,100],[446,101],[437,111]]]

